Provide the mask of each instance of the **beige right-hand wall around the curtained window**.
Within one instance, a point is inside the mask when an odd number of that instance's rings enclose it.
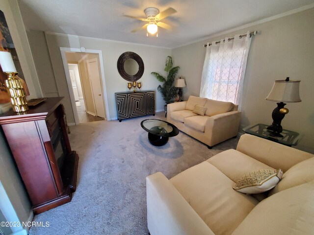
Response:
[[[199,95],[201,74],[207,42],[232,37],[248,30],[259,32],[253,36],[246,67],[240,129],[254,123],[271,124],[271,112],[277,106],[266,101],[275,80],[290,77],[301,80],[301,103],[288,103],[284,129],[304,135],[296,148],[314,153],[314,8],[263,24],[210,38],[202,42],[172,50],[179,76],[186,79],[185,99]]]

